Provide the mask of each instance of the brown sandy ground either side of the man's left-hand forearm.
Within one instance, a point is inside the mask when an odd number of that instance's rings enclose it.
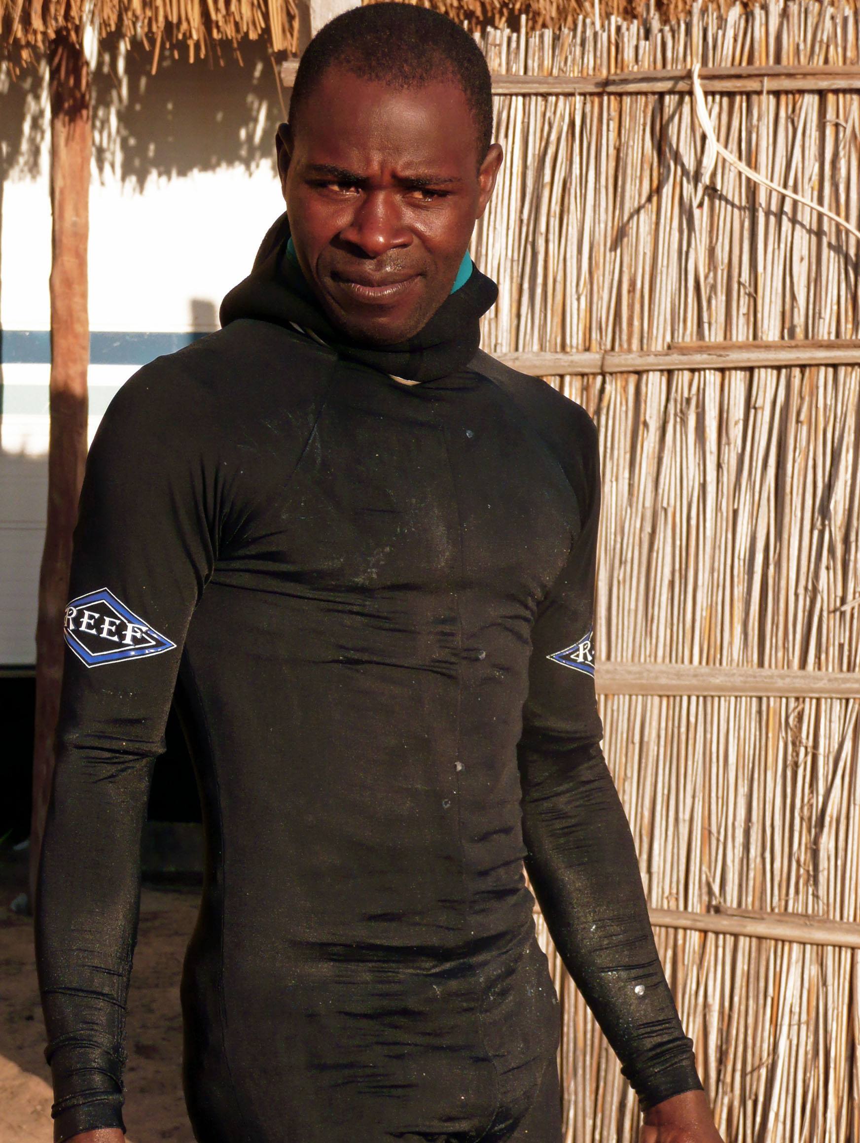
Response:
[[[45,1025],[33,965],[33,924],[0,898],[0,1143],[51,1143]],[[180,1073],[180,972],[198,894],[144,888],[126,1044],[126,1126],[132,1143],[193,1143]]]

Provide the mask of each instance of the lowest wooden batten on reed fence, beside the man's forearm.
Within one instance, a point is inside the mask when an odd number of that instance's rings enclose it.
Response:
[[[860,949],[860,925],[802,913],[766,913],[720,908],[711,913],[688,913],[674,909],[648,909],[655,928],[694,929],[727,936],[757,936],[766,941],[796,941],[842,949]]]

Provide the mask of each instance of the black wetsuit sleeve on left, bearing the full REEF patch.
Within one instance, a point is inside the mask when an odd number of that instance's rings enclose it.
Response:
[[[122,1124],[140,841],[185,631],[215,559],[218,486],[159,362],[112,401],[74,533],[37,964],[57,1143]],[[205,416],[205,395],[192,393]],[[202,435],[202,434],[201,434]]]

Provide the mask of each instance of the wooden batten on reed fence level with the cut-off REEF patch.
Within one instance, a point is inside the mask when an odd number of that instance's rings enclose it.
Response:
[[[603,695],[860,698],[860,674],[852,671],[598,662],[595,686]]]

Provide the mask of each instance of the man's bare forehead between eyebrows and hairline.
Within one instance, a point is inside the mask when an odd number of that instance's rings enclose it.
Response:
[[[329,67],[309,91],[295,123],[297,158],[364,171],[462,171],[475,168],[477,130],[452,78],[398,88]]]

